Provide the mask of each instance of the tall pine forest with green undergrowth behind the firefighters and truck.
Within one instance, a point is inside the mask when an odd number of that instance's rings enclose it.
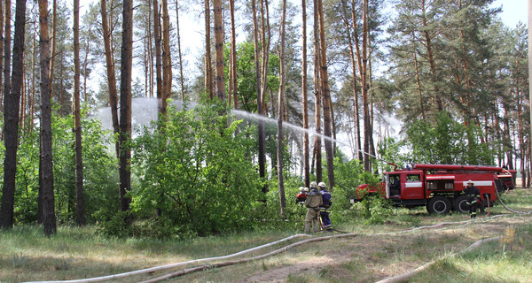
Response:
[[[505,166],[530,187],[528,29],[494,0],[0,11],[0,228],[270,228],[301,219],[299,187],[349,210],[391,164]]]

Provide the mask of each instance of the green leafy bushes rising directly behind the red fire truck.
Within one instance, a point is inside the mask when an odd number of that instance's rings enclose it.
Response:
[[[481,142],[477,126],[464,126],[450,113],[436,114],[434,122],[416,120],[406,125],[414,163],[493,164],[493,153]]]

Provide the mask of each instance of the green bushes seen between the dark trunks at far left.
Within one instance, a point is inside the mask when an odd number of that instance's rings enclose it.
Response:
[[[53,170],[56,214],[59,223],[75,219],[74,119],[71,115],[52,115]],[[118,208],[116,162],[109,154],[109,133],[97,119],[82,114],[83,180],[85,214],[89,223],[110,218]],[[4,155],[4,143],[0,146]],[[2,158],[3,159],[3,158]],[[3,173],[4,171],[2,171]],[[37,219],[39,189],[39,130],[22,132],[17,154],[14,203],[15,223],[34,223]],[[2,178],[2,180],[4,180]]]

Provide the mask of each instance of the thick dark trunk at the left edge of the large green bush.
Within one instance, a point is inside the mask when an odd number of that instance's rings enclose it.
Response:
[[[131,139],[131,65],[133,61],[133,0],[124,0],[122,11],[120,83],[120,209],[129,210],[131,189],[131,149],[123,148]]]

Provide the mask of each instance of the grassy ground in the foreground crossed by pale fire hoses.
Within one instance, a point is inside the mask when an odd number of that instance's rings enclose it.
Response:
[[[532,194],[514,190],[504,196],[514,210],[532,210]],[[508,213],[501,205],[490,216]],[[532,225],[529,216],[483,218],[470,225],[437,229],[416,226],[467,220],[463,214],[430,216],[425,209],[395,209],[383,225],[364,225],[353,218],[337,228],[355,237],[319,241],[247,264],[196,272],[171,282],[373,282],[409,272],[435,260],[411,282],[529,282],[532,281]],[[240,233],[193,241],[106,239],[94,226],[60,226],[52,238],[37,226],[16,226],[0,232],[0,281],[82,279],[224,256],[276,241],[297,231]],[[322,236],[320,233],[316,236]],[[474,241],[503,236],[467,254],[455,255]],[[299,239],[301,240],[301,239]],[[293,240],[299,241],[299,240]],[[277,245],[261,252],[277,249]],[[259,255],[256,252],[252,255]],[[246,255],[250,256],[250,255]],[[190,267],[190,266],[189,266]],[[175,271],[175,270],[173,270]],[[151,274],[154,276],[157,274]],[[122,279],[139,281],[144,276]]]

